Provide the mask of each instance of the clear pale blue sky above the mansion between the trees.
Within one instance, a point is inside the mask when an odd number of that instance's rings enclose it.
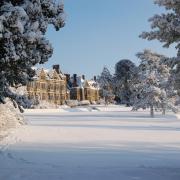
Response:
[[[64,73],[91,78],[105,65],[113,73],[115,63],[123,58],[138,64],[135,54],[145,48],[175,55],[174,48],[164,49],[157,41],[138,37],[150,30],[148,18],[163,12],[153,0],[64,0],[64,5],[66,26],[47,33],[54,47],[48,68],[60,64]]]

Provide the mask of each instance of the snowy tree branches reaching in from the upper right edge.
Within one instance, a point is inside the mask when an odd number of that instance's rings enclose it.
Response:
[[[159,40],[164,47],[175,45],[177,57],[169,58],[168,64],[175,73],[177,90],[180,89],[180,0],[155,0],[155,4],[165,7],[167,13],[154,15],[149,19],[152,31],[143,32],[140,37],[148,40]]]

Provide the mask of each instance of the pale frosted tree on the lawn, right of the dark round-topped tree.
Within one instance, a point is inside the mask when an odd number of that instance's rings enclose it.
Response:
[[[135,97],[133,110],[150,108],[152,117],[155,109],[161,109],[163,114],[166,108],[175,110],[173,106],[175,91],[171,85],[170,68],[162,63],[166,57],[150,50],[138,53],[137,57],[141,63],[133,87]]]

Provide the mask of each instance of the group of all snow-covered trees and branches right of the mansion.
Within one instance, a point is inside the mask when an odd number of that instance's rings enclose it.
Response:
[[[150,18],[152,30],[140,37],[158,40],[165,48],[175,45],[177,56],[167,57],[145,49],[136,55],[140,60],[138,66],[130,60],[120,60],[114,75],[104,67],[98,77],[105,97],[114,95],[118,103],[132,106],[133,110],[149,108],[152,117],[155,110],[163,114],[166,109],[177,112],[175,105],[180,96],[180,1],[154,2],[165,7],[167,13]]]

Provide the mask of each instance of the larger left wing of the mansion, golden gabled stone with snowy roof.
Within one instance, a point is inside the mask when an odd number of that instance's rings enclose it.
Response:
[[[51,71],[39,69],[33,81],[27,85],[28,96],[32,100],[47,101],[62,105],[69,99],[66,76],[59,72],[58,66]]]

